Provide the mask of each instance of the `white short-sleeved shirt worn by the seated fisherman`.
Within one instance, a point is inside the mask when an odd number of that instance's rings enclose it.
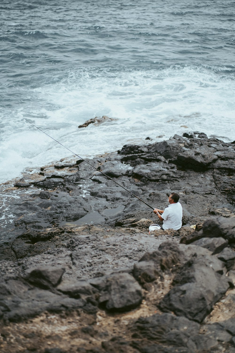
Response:
[[[182,227],[183,210],[179,202],[170,204],[165,208],[163,214],[163,229],[175,229],[178,231]]]

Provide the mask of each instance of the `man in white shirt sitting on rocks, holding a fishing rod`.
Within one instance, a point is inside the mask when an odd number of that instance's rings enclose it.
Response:
[[[160,221],[163,221],[160,229],[166,230],[171,228],[178,231],[182,227],[183,211],[181,204],[178,202],[179,198],[177,193],[172,192],[168,198],[169,205],[164,211],[158,208],[153,210]]]

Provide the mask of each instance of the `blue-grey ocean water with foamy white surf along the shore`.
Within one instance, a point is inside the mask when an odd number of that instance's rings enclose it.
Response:
[[[0,182],[70,155],[23,118],[82,158],[185,131],[235,140],[234,10],[1,0]],[[102,115],[116,120],[78,129]]]

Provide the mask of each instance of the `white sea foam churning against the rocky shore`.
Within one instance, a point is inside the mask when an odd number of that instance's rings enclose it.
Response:
[[[17,113],[81,157],[116,151],[126,143],[145,143],[147,136],[156,142],[185,131],[202,131],[225,142],[235,139],[234,77],[203,67],[70,71],[61,82],[32,93],[40,105],[32,99],[24,108],[16,107]],[[71,154],[7,108],[1,114],[1,182],[20,176],[26,167]],[[117,120],[78,129],[102,115]]]

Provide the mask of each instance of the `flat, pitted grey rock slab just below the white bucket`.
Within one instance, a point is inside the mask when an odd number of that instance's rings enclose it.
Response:
[[[98,272],[105,275],[107,271],[120,268],[129,267],[131,270],[141,255],[148,249],[157,249],[164,239],[142,233],[128,234],[126,229],[120,229],[115,236],[106,239],[101,237],[101,232],[70,239],[67,246],[68,251],[72,252],[70,258],[76,275],[87,279],[94,277]],[[122,250],[118,251],[120,247]]]

